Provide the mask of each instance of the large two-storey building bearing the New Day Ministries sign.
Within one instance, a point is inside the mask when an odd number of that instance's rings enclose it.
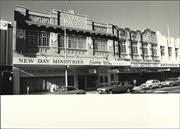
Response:
[[[130,66],[130,61],[114,60],[117,33],[111,24],[94,22],[73,11],[44,14],[23,7],[16,8],[15,21],[16,94],[25,93],[27,86],[39,91],[48,90],[52,83],[65,85],[66,68],[68,85],[95,89],[114,81],[110,67]]]

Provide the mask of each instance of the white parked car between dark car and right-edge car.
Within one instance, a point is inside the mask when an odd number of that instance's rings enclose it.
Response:
[[[152,89],[152,88],[157,88],[157,87],[163,87],[161,82],[159,80],[147,80],[146,83],[143,83],[140,85],[142,89]]]

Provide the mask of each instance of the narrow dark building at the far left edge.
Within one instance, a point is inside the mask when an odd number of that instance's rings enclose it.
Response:
[[[0,20],[0,94],[13,94],[12,23]]]

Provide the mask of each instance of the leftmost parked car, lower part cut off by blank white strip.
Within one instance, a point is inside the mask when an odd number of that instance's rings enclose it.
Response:
[[[73,86],[63,86],[58,88],[54,92],[44,92],[43,94],[54,94],[54,95],[59,95],[59,94],[86,94],[84,90],[77,89]]]

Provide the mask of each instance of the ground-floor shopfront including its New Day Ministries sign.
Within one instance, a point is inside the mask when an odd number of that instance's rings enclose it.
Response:
[[[109,70],[113,66],[130,65],[123,61],[105,59],[75,59],[57,57],[14,57],[14,85],[17,94],[49,91],[51,85],[65,86],[65,67],[68,85],[83,90],[95,90],[117,80],[117,73]],[[18,86],[19,85],[19,86]]]

